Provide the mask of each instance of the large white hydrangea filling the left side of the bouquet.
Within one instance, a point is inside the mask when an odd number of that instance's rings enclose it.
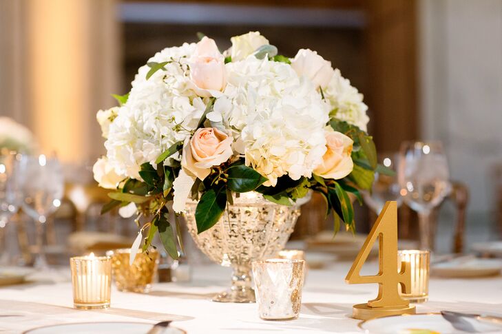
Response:
[[[127,103],[109,125],[105,142],[107,158],[117,174],[140,180],[141,164],[154,165],[162,152],[195,129],[207,103],[196,95],[187,76],[187,61],[195,48],[196,44],[185,43],[155,54],[149,62],[172,62],[149,79],[148,65],[138,70]]]

